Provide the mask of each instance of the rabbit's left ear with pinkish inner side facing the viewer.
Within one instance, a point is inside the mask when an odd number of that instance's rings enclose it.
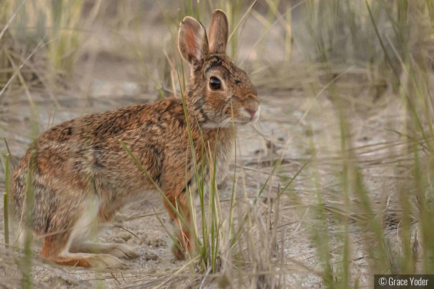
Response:
[[[178,48],[182,58],[193,66],[200,66],[208,56],[208,40],[204,26],[187,16],[179,24]]]

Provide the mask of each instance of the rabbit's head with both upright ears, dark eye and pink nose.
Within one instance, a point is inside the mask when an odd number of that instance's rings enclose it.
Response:
[[[226,55],[229,33],[226,14],[213,13],[209,42],[204,26],[187,16],[180,24],[178,47],[191,65],[185,101],[204,128],[256,122],[260,106],[247,73]]]

